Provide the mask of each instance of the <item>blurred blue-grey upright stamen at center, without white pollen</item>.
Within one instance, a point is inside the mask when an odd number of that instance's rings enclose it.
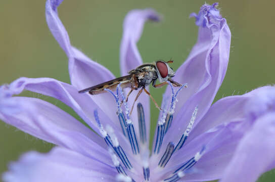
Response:
[[[138,117],[139,117],[139,130],[140,130],[140,140],[143,144],[147,142],[146,138],[146,125],[144,117],[144,109],[141,103],[138,103]]]

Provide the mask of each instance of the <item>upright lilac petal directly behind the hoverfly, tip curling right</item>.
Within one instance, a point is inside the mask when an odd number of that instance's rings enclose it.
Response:
[[[124,19],[123,34],[122,34],[122,39],[120,44],[121,75],[127,75],[128,71],[135,69],[136,67],[143,64],[143,61],[138,51],[138,47],[136,46],[136,43],[139,41],[142,35],[143,27],[147,20],[159,21],[160,17],[157,14],[157,12],[155,12],[154,10],[144,9],[144,10],[132,10],[126,15]],[[125,95],[129,92],[129,90],[130,89],[125,89]],[[129,97],[128,103],[130,107],[133,104],[136,94],[137,92],[134,90],[134,92],[131,94],[131,97]],[[149,135],[149,130],[150,130],[149,97],[145,93],[143,93],[139,97],[138,102],[142,103],[144,107],[147,135]],[[131,116],[132,116],[132,120],[134,120],[133,121],[134,126],[135,128],[137,128],[138,114],[136,111],[136,106],[134,107],[134,110]]]

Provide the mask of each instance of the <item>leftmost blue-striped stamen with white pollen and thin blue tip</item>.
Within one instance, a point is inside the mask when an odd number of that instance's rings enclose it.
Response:
[[[128,168],[128,169],[131,169],[132,168],[132,165],[130,163],[130,161],[128,160],[124,150],[122,149],[122,147],[119,145],[118,143],[118,140],[117,140],[117,137],[114,133],[114,130],[112,127],[110,126],[107,126],[107,129],[108,129],[108,132],[110,133],[110,135],[107,133],[106,130],[104,130],[100,120],[99,120],[99,116],[98,116],[98,111],[95,110],[94,111],[94,116],[95,116],[95,119],[99,125],[99,128],[100,128],[100,131],[101,131],[101,134],[106,142],[106,144],[111,147],[114,152],[117,154],[117,156],[120,158],[120,160],[122,161],[123,165]]]

